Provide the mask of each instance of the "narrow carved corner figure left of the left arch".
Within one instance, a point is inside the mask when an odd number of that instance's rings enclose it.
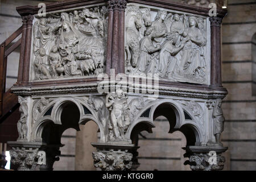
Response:
[[[18,140],[27,140],[27,101],[22,97],[18,97],[18,101],[20,103],[19,112],[20,112],[20,119],[17,123],[19,138]]]

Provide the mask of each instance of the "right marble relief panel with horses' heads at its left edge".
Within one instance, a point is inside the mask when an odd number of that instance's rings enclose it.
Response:
[[[207,20],[128,5],[126,73],[158,73],[171,81],[208,83]]]

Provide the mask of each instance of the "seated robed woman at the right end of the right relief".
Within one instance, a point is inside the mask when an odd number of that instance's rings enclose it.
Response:
[[[204,77],[204,68],[206,66],[204,59],[201,58],[200,47],[204,46],[204,36],[199,28],[197,28],[195,16],[188,19],[189,27],[187,32],[187,43],[183,48],[181,56],[181,64],[183,64],[183,72],[187,75],[195,77]]]

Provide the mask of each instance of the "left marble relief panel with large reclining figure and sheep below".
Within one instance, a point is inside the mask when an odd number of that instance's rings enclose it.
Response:
[[[107,31],[105,6],[36,17],[32,80],[94,76],[104,72]]]

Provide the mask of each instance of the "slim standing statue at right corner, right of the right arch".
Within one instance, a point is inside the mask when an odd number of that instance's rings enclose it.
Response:
[[[222,131],[224,130],[223,122],[225,120],[223,116],[223,111],[221,109],[222,100],[218,98],[214,102],[214,108],[213,108],[213,134],[216,139],[216,143],[220,146],[223,146],[223,144],[220,142],[220,135]]]

